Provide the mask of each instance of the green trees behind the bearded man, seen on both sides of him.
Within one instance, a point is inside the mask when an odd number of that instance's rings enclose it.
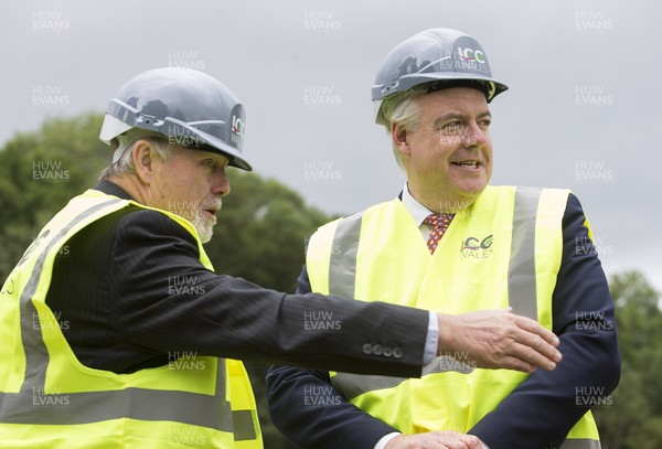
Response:
[[[39,231],[71,197],[96,183],[110,160],[98,140],[99,115],[47,120],[14,136],[0,149],[0,280],[3,282]],[[232,194],[224,199],[214,238],[205,245],[217,272],[293,292],[306,238],[331,217],[305,204],[275,180],[228,170]],[[268,418],[267,365],[246,363],[267,448],[290,448]]]

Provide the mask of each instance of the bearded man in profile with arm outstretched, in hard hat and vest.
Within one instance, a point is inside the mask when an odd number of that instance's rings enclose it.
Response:
[[[100,138],[115,150],[100,182],[43,227],[0,290],[2,447],[261,448],[238,359],[398,376],[449,350],[523,372],[560,360],[553,332],[506,310],[450,317],[214,272],[202,245],[225,170],[250,165],[243,107],[206,74],[129,79]],[[338,325],[319,332],[314,317]]]

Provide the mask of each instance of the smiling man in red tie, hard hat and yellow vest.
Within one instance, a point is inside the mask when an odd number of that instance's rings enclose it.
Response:
[[[600,447],[581,404],[618,384],[613,303],[574,194],[489,185],[488,104],[506,88],[459,31],[427,30],[397,45],[373,101],[407,182],[398,197],[312,236],[298,292],[441,313],[512,307],[559,335],[564,360],[522,374],[449,351],[420,379],[274,366],[271,419],[298,447],[466,448],[467,434],[491,449]],[[583,331],[587,313],[605,331]],[[314,392],[330,405],[303,406]]]

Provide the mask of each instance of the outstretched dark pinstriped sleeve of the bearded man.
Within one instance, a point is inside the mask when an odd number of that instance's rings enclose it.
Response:
[[[154,353],[191,351],[420,376],[426,311],[317,293],[285,295],[220,276],[202,266],[190,233],[159,212],[130,213],[118,226],[110,256],[117,298],[111,316],[116,331],[136,345]],[[313,321],[325,327],[309,325]],[[403,357],[366,355],[366,343],[398,346]]]

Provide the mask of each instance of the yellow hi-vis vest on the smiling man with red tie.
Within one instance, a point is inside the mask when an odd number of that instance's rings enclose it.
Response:
[[[552,329],[568,193],[488,186],[456,214],[434,255],[402,201],[377,204],[312,236],[307,252],[311,288],[450,314],[511,306]],[[459,353],[437,357],[423,374],[405,379],[331,373],[331,383],[403,434],[467,432],[528,376],[473,368]],[[600,447],[590,411],[567,438],[566,449]]]

